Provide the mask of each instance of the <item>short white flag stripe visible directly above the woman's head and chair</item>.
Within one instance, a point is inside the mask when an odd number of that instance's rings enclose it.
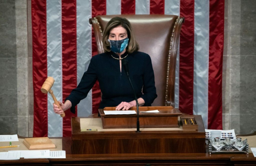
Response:
[[[120,15],[121,0],[106,0],[106,15]]]

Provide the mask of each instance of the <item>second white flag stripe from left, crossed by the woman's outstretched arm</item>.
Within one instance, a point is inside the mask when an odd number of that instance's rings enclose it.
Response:
[[[77,83],[81,81],[91,59],[91,0],[77,0]],[[92,114],[91,91],[77,105],[77,116]]]

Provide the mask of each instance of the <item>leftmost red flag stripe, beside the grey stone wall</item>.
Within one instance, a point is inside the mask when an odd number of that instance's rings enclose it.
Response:
[[[47,78],[46,0],[32,0],[31,15],[34,90],[33,137],[47,137],[47,94],[43,94],[40,90]]]

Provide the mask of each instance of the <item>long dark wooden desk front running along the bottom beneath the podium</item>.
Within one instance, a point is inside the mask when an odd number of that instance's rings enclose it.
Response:
[[[246,136],[243,136],[246,137]],[[0,165],[256,165],[256,157],[246,154],[168,153],[168,154],[71,154],[71,138],[62,139],[65,159],[0,160]]]

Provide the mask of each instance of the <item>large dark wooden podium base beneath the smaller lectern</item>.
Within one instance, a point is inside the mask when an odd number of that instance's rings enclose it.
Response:
[[[150,107],[150,110],[156,110]],[[141,110],[140,110],[141,111]],[[201,115],[193,117],[198,130],[177,128],[103,129],[100,117],[72,117],[72,154],[205,153],[205,128]],[[178,117],[177,117],[178,118]],[[80,122],[87,120],[88,131]],[[98,125],[95,126],[95,122]],[[97,131],[89,129],[97,127]]]

